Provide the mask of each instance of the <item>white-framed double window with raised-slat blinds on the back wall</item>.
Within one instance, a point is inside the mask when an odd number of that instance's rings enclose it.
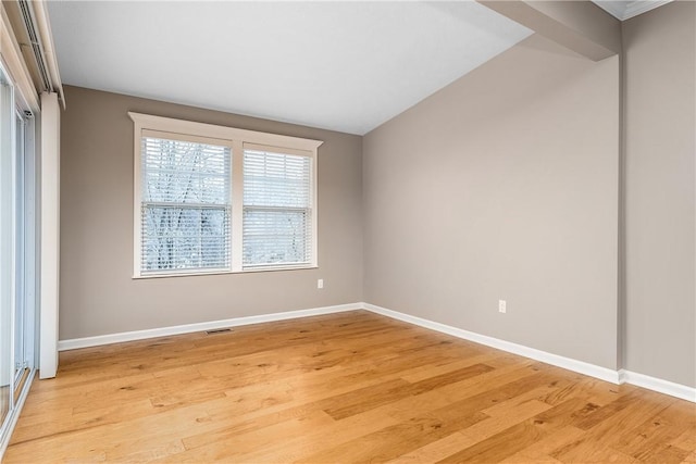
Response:
[[[129,115],[134,277],[316,266],[320,141]]]

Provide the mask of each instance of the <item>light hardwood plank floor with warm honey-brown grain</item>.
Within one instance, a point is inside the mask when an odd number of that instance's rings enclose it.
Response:
[[[696,462],[696,406],[364,311],[61,353],[4,461]]]

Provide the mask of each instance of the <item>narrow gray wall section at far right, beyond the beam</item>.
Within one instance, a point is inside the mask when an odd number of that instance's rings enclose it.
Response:
[[[696,387],[696,4],[623,23],[625,368]]]

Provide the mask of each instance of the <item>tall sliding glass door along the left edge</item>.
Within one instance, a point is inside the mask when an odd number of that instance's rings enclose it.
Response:
[[[34,120],[0,64],[0,442],[28,391],[36,340]],[[0,450],[1,451],[1,450]]]

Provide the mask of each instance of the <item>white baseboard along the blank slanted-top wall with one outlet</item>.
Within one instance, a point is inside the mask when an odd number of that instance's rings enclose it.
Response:
[[[619,373],[607,367],[589,364],[584,361],[573,360],[571,358],[560,356],[558,354],[548,353],[546,351],[529,348],[518,343],[512,343],[510,341],[500,340],[498,338],[488,337],[473,331],[463,330],[461,328],[424,319],[422,317],[387,310],[386,308],[375,306],[374,304],[363,303],[363,305],[365,310],[372,311],[373,313],[382,314],[387,317],[430,328],[432,330],[451,335],[464,340],[485,344],[486,347],[497,348],[498,350],[519,354],[521,356],[530,358],[532,360],[540,361],[543,363],[551,364],[554,366],[562,367],[580,374],[588,375],[591,377],[610,381],[612,384],[619,384]]]

